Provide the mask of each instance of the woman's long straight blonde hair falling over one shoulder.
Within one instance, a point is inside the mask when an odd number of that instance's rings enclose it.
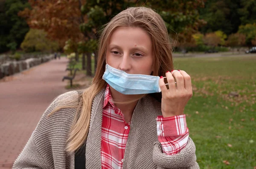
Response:
[[[165,76],[167,70],[173,69],[172,47],[169,35],[165,22],[159,14],[151,8],[131,7],[113,17],[105,25],[99,40],[98,64],[92,84],[82,91],[81,99],[73,103],[73,106],[58,106],[52,112],[54,113],[62,108],[76,107],[76,115],[67,139],[67,152],[76,151],[86,141],[93,99],[100,90],[107,86],[102,76],[105,72],[108,40],[113,31],[120,27],[143,28],[151,37],[154,54],[153,73],[151,75]]]

